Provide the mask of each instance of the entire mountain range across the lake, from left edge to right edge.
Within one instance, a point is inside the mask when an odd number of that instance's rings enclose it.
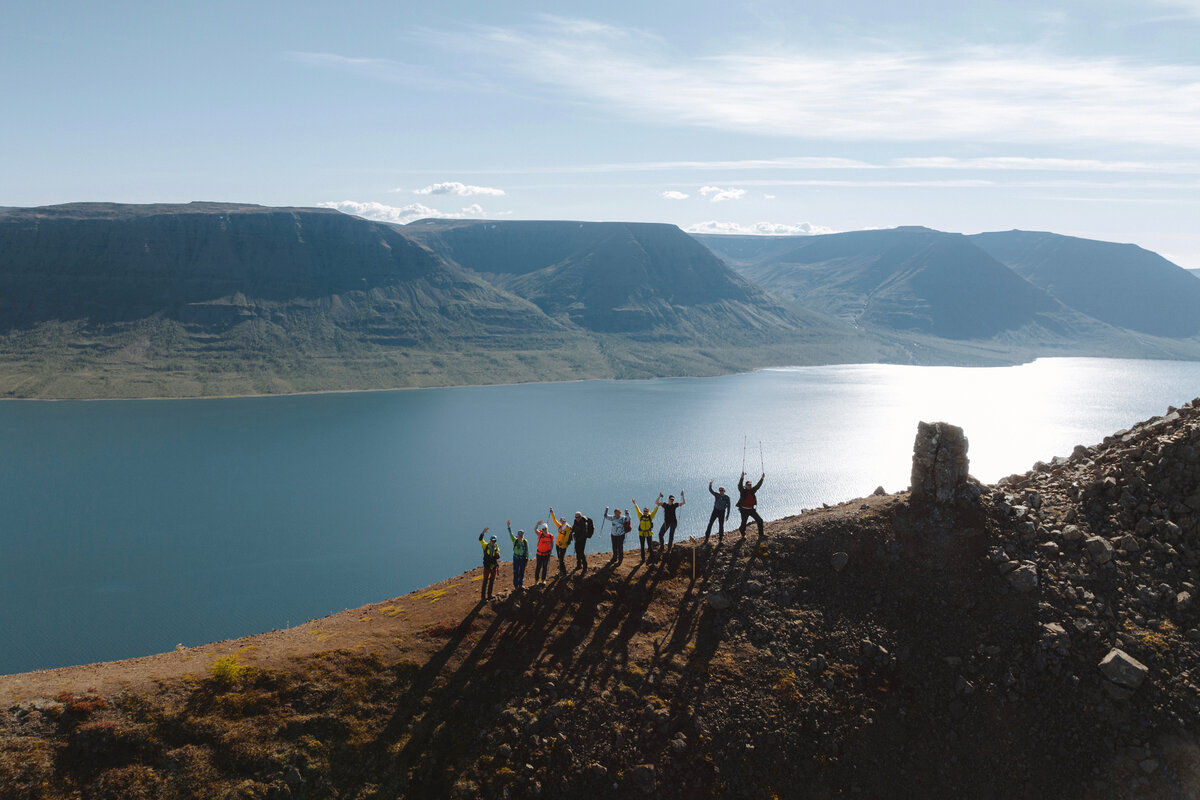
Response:
[[[0,397],[1196,359],[1196,303],[1200,282],[1153,253],[1054,234],[694,237],[233,203],[0,209]]]

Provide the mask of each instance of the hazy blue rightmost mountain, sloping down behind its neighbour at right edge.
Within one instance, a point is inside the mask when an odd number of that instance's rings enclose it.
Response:
[[[970,240],[1033,285],[1110,325],[1165,337],[1200,332],[1200,283],[1158,253],[1027,230]]]

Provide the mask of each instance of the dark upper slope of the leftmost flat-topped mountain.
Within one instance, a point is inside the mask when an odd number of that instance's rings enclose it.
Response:
[[[286,325],[320,306],[335,325],[378,341],[559,327],[392,228],[323,209],[18,209],[0,212],[0,330],[155,315],[224,330]]]

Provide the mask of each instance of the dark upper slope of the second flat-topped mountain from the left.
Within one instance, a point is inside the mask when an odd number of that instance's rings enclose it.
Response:
[[[427,219],[404,231],[589,331],[743,339],[844,327],[790,313],[674,225]]]

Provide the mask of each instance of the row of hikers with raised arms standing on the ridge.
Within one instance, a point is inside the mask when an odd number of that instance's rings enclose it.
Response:
[[[737,509],[742,515],[742,524],[738,528],[738,533],[742,536],[745,536],[746,524],[750,519],[754,519],[758,524],[758,535],[763,535],[762,517],[758,516],[757,492],[762,488],[762,482],[766,477],[767,474],[763,473],[757,483],[751,483],[746,480],[745,473],[742,473],[738,477]],[[709,515],[708,527],[704,529],[704,541],[708,542],[713,533],[713,523],[716,523],[716,541],[721,543],[725,541],[725,523],[730,519],[732,499],[725,493],[724,486],[714,491],[713,481],[708,482],[708,492],[713,495],[713,512]],[[670,553],[671,548],[674,547],[676,528],[679,525],[679,509],[686,503],[683,491],[680,489],[679,492],[678,501],[676,501],[673,494],[667,495],[667,499],[664,500],[662,493],[659,492],[659,497],[653,506],[641,507],[637,505],[636,499],[630,499],[630,503],[636,517],[620,509],[613,509],[612,513],[610,513],[607,506],[604,510],[605,523],[612,523],[612,557],[608,559],[608,564],[619,565],[625,560],[625,534],[632,533],[635,518],[641,560],[644,561],[647,558],[654,560],[654,517],[658,515],[659,509],[662,509],[662,524],[659,528],[659,549],[664,551],[665,548]],[[587,546],[588,540],[595,533],[595,523],[592,518],[582,511],[576,511],[574,519],[559,519],[554,515],[554,506],[550,506],[550,521],[554,525],[554,533],[551,533],[550,527],[544,519],[539,519],[538,525],[534,528],[534,533],[538,535],[536,549],[534,551],[536,565],[533,571],[535,583],[546,582],[552,549],[558,555],[559,573],[566,572],[564,559],[566,557],[566,548],[572,543],[575,546],[575,570],[584,573],[588,571]],[[526,565],[529,563],[529,540],[526,539],[524,530],[517,530],[516,534],[512,533],[511,519],[506,521],[506,527],[509,540],[512,543],[512,587],[517,590],[523,590]],[[601,524],[602,527],[604,523]],[[484,528],[479,534],[479,543],[484,548],[484,583],[480,587],[480,600],[487,600],[492,596],[496,573],[500,569],[500,547],[496,535],[493,534],[491,537],[485,539],[490,529],[490,527]]]

